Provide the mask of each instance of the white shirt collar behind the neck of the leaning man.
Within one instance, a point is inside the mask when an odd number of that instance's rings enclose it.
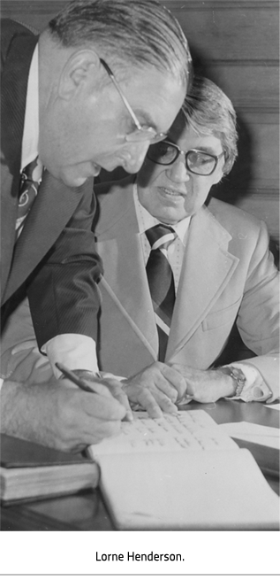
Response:
[[[39,146],[39,73],[38,44],[31,61],[27,92],[26,114],[22,138],[21,170],[38,155]]]

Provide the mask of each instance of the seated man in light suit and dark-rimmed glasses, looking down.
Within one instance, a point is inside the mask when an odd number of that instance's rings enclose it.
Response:
[[[280,274],[267,229],[208,197],[236,155],[231,101],[197,78],[168,138],[150,146],[136,179],[95,189],[103,369],[129,376],[164,361],[185,377],[182,401],[280,395]],[[235,321],[257,356],[214,369]],[[178,402],[171,385],[159,390]]]

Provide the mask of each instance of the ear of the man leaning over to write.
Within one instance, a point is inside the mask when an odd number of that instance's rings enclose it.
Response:
[[[60,75],[59,97],[70,100],[80,89],[92,91],[93,85],[97,88],[101,65],[95,50],[76,50],[64,64]]]

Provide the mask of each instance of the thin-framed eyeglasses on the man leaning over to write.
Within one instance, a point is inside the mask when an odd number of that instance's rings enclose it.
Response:
[[[112,73],[110,66],[107,65],[103,58],[99,59],[102,66],[104,67],[106,73],[109,74],[110,80],[114,83],[119,96],[121,97],[123,103],[125,104],[126,110],[129,112],[133,123],[135,125],[135,131],[129,135],[125,135],[125,141],[149,141],[150,143],[158,143],[162,141],[167,136],[166,133],[156,133],[155,128],[147,127],[146,125],[141,125],[140,120],[137,119],[135,112],[132,110],[131,105],[128,103],[123,91],[120,89],[118,82]]]

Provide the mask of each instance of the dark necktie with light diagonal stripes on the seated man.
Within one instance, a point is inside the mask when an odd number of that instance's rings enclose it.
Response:
[[[147,229],[146,236],[151,245],[146,271],[158,332],[158,360],[163,361],[175,303],[174,278],[167,259],[167,248],[177,235],[170,226],[158,224]]]

